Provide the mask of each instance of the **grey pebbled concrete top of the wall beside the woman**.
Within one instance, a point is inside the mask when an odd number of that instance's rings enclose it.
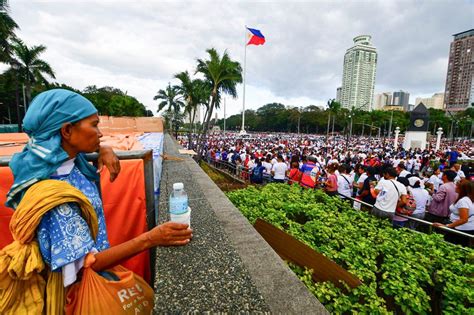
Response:
[[[168,134],[164,153],[183,161],[163,161],[158,220],[169,220],[172,185],[183,182],[193,240],[157,248],[155,313],[328,314]]]

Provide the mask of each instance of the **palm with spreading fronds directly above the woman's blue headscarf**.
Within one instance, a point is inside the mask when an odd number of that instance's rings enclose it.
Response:
[[[18,64],[18,75],[25,84],[27,104],[31,100],[31,86],[35,83],[45,83],[48,81],[44,75],[55,79],[54,71],[51,66],[40,55],[46,50],[43,45],[28,47],[22,40],[16,39],[12,46],[15,62]],[[10,69],[10,71],[15,71]]]

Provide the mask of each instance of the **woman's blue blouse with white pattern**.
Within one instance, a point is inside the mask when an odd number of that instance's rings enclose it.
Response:
[[[94,207],[99,221],[99,234],[94,243],[89,227],[81,216],[76,203],[65,203],[48,211],[38,227],[38,243],[41,255],[52,271],[60,271],[61,267],[84,257],[96,248],[102,251],[110,247],[105,228],[104,209],[99,191],[74,166],[69,175],[52,176],[52,179],[64,180],[86,195]]]

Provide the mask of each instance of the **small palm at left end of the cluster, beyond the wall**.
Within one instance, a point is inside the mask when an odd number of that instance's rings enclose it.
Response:
[[[179,122],[180,110],[184,107],[184,103],[181,101],[181,96],[179,95],[179,89],[177,86],[171,86],[168,83],[166,90],[159,90],[158,93],[153,97],[156,100],[162,100],[158,104],[158,112],[165,109],[165,114],[163,115],[165,119],[170,124],[170,130],[173,130],[173,125],[177,126],[177,122]],[[175,134],[178,133],[177,128],[175,127]]]

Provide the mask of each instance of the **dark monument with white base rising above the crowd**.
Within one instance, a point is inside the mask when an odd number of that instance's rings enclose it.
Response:
[[[430,114],[423,103],[418,104],[410,113],[410,124],[405,132],[403,148],[405,150],[426,149]]]

